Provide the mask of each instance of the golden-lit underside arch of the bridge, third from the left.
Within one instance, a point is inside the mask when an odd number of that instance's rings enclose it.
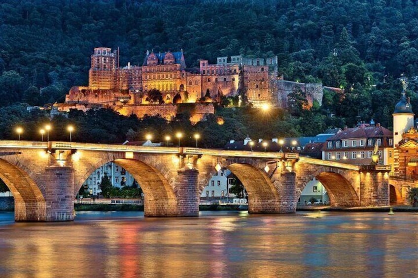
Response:
[[[249,213],[279,213],[280,198],[275,185],[272,183],[266,172],[260,167],[261,163],[254,159],[229,159],[219,161],[220,167],[230,170],[244,185],[248,194]],[[199,197],[210,178],[217,173],[214,168],[199,179]]]

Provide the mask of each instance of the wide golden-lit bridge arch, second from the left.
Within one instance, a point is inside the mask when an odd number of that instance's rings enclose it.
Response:
[[[127,170],[141,186],[145,216],[175,216],[176,173],[174,169],[168,169],[158,154],[134,154],[132,158],[126,158],[125,153],[113,153],[102,154],[97,159],[94,156],[98,154],[90,152],[88,155],[92,155],[94,162],[76,167],[81,173],[76,173],[74,196],[96,169],[105,163],[114,162]]]

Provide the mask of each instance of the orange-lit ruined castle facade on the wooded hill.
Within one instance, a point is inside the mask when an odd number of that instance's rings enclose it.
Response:
[[[150,92],[160,91],[165,104],[212,102],[219,96],[240,91],[254,106],[271,99],[269,80],[276,80],[277,57],[217,58],[216,64],[200,61],[199,68],[187,68],[183,51],[146,53],[141,66],[119,66],[119,51],[94,49],[89,70],[89,86],[74,86],[66,95],[71,105],[104,107],[137,106],[155,102]],[[117,110],[117,109],[116,109]]]

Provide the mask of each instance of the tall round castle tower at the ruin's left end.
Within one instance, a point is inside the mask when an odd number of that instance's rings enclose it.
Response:
[[[97,47],[91,56],[89,87],[92,90],[112,90],[115,87],[117,55],[107,47]]]

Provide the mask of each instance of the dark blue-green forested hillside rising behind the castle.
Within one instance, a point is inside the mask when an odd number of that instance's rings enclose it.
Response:
[[[71,86],[87,84],[99,46],[120,47],[122,65],[141,64],[147,49],[183,49],[188,66],[273,52],[285,79],[345,89],[326,93],[314,116],[348,125],[373,117],[390,127],[397,78],[418,75],[417,7],[416,0],[2,0],[0,106],[63,101]]]

